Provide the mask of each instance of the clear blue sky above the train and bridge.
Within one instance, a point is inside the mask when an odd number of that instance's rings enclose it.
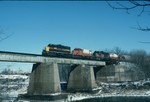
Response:
[[[150,52],[149,44],[139,43],[150,41],[150,32],[132,28],[137,22],[150,25],[150,15],[139,12],[113,10],[105,1],[1,1],[0,27],[11,36],[0,42],[0,51],[41,54],[52,43],[72,50],[119,47]]]

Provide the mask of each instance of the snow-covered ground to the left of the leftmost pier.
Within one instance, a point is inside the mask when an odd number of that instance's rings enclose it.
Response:
[[[27,75],[0,75],[0,97],[18,97],[27,92],[29,78]]]

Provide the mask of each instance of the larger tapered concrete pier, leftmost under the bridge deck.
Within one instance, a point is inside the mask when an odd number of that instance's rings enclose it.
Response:
[[[57,63],[34,64],[30,75],[29,95],[61,92]]]

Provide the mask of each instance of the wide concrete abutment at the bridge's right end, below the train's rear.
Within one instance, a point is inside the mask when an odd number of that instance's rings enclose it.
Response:
[[[99,69],[99,68],[95,68]],[[120,62],[118,65],[107,65],[95,71],[97,83],[101,82],[130,82],[144,79],[144,74],[137,71],[133,63]]]

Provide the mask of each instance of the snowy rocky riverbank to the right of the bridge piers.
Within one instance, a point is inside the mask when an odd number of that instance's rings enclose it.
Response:
[[[150,96],[150,81],[137,81],[125,83],[101,83],[95,94],[72,93],[68,95],[68,101],[83,100],[97,97],[116,97],[116,96]],[[96,89],[94,89],[96,90]]]

